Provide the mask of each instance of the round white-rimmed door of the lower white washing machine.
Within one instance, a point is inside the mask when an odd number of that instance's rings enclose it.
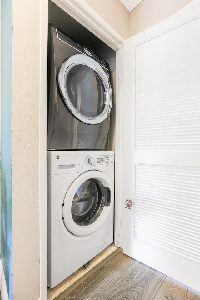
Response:
[[[76,236],[96,231],[113,209],[114,190],[108,176],[87,171],[74,180],[64,201],[62,217],[65,227]]]

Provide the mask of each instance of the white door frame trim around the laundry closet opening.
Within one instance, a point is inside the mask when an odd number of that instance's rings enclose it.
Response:
[[[121,198],[123,179],[123,42],[121,37],[84,0],[53,0],[76,21],[116,51],[115,140],[115,232],[114,243],[122,247]],[[39,99],[39,225],[40,299],[47,299],[47,23],[48,0],[40,0],[40,99]],[[120,76],[119,76],[120,75]]]

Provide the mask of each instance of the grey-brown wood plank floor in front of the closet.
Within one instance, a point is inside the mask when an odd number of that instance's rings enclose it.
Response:
[[[200,293],[121,251],[59,300],[200,300]]]

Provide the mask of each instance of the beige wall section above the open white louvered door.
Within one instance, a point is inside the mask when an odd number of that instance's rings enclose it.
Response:
[[[192,0],[143,0],[130,13],[130,37],[170,17]]]

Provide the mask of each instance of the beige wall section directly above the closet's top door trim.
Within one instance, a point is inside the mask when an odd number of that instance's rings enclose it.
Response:
[[[123,38],[129,37],[129,12],[119,0],[85,0]]]

